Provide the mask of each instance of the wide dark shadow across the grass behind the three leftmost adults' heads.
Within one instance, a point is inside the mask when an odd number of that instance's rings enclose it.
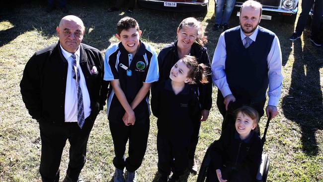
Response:
[[[116,33],[116,24],[124,16],[135,18],[141,30],[143,38],[154,43],[170,43],[176,40],[176,27],[186,17],[204,18],[205,14],[198,12],[168,12],[153,9],[138,8],[133,13],[127,13],[126,8],[120,11],[108,13],[106,10],[112,5],[108,1],[94,0],[68,1],[70,7],[68,13],[63,13],[60,9],[47,13],[46,1],[28,0],[17,3],[17,8],[1,9],[0,22],[8,21],[11,28],[0,31],[0,47],[8,44],[24,32],[37,30],[42,36],[51,38],[56,36],[56,27],[60,19],[68,14],[73,14],[82,19],[85,25],[85,35],[83,43],[93,46],[99,50],[106,49],[111,42],[109,39]],[[18,8],[24,7],[24,8]],[[149,18],[148,18],[149,17]],[[161,18],[162,22],[161,22]],[[173,27],[167,29],[163,27]]]

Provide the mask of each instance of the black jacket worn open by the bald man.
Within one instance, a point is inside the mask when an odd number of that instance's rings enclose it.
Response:
[[[99,50],[80,45],[80,65],[90,97],[91,114],[103,109],[108,82],[103,81],[103,57]],[[93,66],[97,72],[91,72]],[[60,43],[37,51],[27,62],[20,82],[22,100],[32,118],[64,123],[68,62]]]

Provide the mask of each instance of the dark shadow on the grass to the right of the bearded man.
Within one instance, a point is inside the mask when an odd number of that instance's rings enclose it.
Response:
[[[323,53],[321,48],[310,43],[307,33],[303,34],[303,47],[300,39],[294,41],[295,60],[291,86],[288,95],[283,98],[282,108],[285,117],[301,127],[304,152],[309,156],[316,156],[319,147],[315,133],[323,129],[323,98],[320,85]]]

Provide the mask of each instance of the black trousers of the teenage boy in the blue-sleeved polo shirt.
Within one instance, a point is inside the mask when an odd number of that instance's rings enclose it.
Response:
[[[109,122],[110,131],[113,139],[114,154],[113,165],[129,172],[136,171],[143,162],[147,140],[149,134],[150,120],[146,118],[144,122],[126,126],[123,121]],[[129,157],[125,159],[126,144],[129,139]]]

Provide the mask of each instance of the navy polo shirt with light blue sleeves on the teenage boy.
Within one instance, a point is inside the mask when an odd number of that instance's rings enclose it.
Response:
[[[133,57],[122,43],[112,44],[105,52],[103,80],[119,80],[122,91],[130,104],[143,83],[156,82],[159,79],[158,61],[154,47],[140,41],[140,47]],[[149,92],[134,109],[136,123],[147,120],[150,115]],[[110,89],[107,101],[107,116],[110,122],[122,122],[125,113],[113,89]],[[123,122],[122,122],[123,123]]]

